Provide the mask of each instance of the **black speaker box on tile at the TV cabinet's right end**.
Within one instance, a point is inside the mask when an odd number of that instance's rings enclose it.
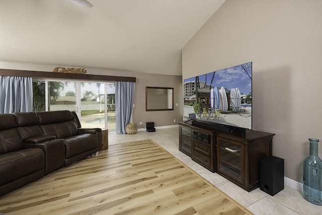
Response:
[[[261,160],[260,189],[271,196],[284,189],[284,159],[270,156]]]

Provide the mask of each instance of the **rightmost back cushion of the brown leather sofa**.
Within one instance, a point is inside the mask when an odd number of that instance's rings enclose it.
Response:
[[[37,112],[44,135],[65,138],[77,134],[77,125],[69,110]]]

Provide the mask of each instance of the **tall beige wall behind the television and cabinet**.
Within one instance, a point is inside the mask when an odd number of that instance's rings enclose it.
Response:
[[[183,48],[183,79],[253,61],[253,128],[302,182],[308,137],[322,141],[322,1],[226,0]],[[322,156],[322,146],[319,148]]]

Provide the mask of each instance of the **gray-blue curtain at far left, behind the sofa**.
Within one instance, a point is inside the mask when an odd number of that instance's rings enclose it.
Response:
[[[32,111],[32,78],[0,76],[0,113]]]

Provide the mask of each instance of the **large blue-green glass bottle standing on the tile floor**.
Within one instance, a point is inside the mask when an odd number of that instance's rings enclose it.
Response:
[[[303,161],[303,197],[322,205],[322,161],[318,157],[318,139],[308,138],[310,155]]]

